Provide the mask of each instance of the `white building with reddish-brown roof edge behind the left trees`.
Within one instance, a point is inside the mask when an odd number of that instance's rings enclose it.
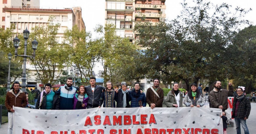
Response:
[[[64,32],[66,29],[72,29],[74,25],[77,25],[81,30],[85,30],[85,24],[82,18],[81,7],[65,8],[65,9],[40,9],[40,8],[22,8],[5,6],[5,27],[8,28],[12,24],[15,25],[14,33],[23,33],[26,28],[31,32],[35,26],[47,27],[48,19],[50,16],[54,16],[53,23],[60,23],[59,30],[56,35],[56,40],[61,43],[64,40]],[[40,44],[40,43],[39,43]],[[36,82],[34,66],[27,61],[27,70],[29,77],[27,78],[28,87],[39,87]],[[65,70],[69,70],[65,68]]]

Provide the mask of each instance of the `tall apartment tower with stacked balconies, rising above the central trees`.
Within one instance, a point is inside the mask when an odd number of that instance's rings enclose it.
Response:
[[[106,0],[105,23],[114,24],[116,35],[133,42],[135,22],[159,22],[166,16],[165,9],[165,0]]]

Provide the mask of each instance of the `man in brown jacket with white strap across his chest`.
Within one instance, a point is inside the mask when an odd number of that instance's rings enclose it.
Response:
[[[154,79],[154,86],[147,89],[146,101],[153,109],[155,107],[163,107],[164,91],[159,87],[159,79]]]

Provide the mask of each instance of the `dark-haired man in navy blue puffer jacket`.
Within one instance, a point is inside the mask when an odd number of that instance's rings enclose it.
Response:
[[[145,107],[146,102],[146,95],[145,93],[140,92],[140,83],[135,82],[134,90],[130,92],[130,100],[131,100],[131,107]]]

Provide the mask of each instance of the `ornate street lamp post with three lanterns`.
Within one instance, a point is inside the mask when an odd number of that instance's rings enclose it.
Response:
[[[13,45],[15,47],[15,52],[14,52],[15,57],[17,57],[17,56],[23,57],[23,72],[22,72],[22,78],[21,78],[21,80],[22,80],[22,84],[21,84],[22,88],[21,88],[21,90],[23,92],[26,92],[26,62],[27,62],[27,57],[35,59],[36,49],[37,49],[37,45],[38,45],[38,42],[36,41],[36,39],[34,39],[34,41],[32,41],[32,49],[34,50],[33,54],[32,54],[32,56],[27,55],[27,39],[28,39],[28,37],[29,37],[29,31],[26,28],[23,31],[23,38],[25,39],[25,42],[24,42],[24,54],[23,55],[18,55],[18,51],[17,51],[17,49],[19,47],[20,40],[18,39],[17,36],[13,39]]]

